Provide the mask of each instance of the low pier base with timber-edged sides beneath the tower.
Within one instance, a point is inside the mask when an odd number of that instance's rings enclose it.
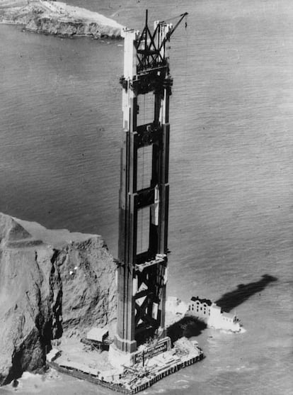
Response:
[[[91,365],[91,360],[84,361],[84,363],[76,362],[70,354],[71,347],[68,347],[69,353],[64,355],[62,355],[62,350],[60,350],[61,353],[54,352],[54,355],[49,355],[47,365],[59,372],[120,391],[123,394],[137,394],[163,377],[193,365],[204,357],[197,342],[181,338],[170,350],[169,340],[164,338],[156,345],[133,353],[121,352],[115,345],[111,345],[108,358],[115,367],[110,367],[110,363],[108,364],[106,360],[103,360],[103,367],[98,368]],[[81,350],[81,352],[88,357],[88,350]],[[103,358],[103,354],[103,352],[96,353],[96,362],[98,358]]]

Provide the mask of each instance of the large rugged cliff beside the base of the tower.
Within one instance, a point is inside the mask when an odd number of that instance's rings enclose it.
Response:
[[[0,385],[42,367],[52,339],[114,323],[115,292],[100,236],[0,213]]]

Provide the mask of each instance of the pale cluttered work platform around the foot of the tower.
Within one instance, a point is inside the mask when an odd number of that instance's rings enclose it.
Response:
[[[197,343],[193,344],[187,339],[178,340],[175,347],[158,354],[155,352],[151,355],[147,349],[139,351],[134,365],[125,365],[120,369],[109,369],[106,354],[105,351],[101,353],[85,351],[78,343],[64,348],[60,345],[59,350],[55,350],[53,356],[47,360],[47,365],[57,369],[58,372],[99,384],[113,391],[137,394],[163,377],[204,358]]]

